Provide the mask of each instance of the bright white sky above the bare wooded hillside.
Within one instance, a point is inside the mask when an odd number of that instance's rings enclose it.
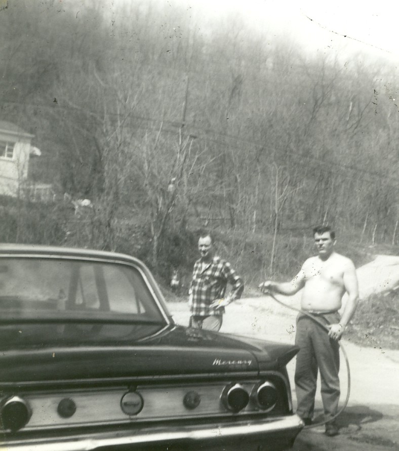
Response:
[[[399,60],[397,0],[179,0],[179,3],[193,10],[202,9],[208,16],[227,16],[236,11],[254,28],[295,36],[308,51],[338,52],[345,47],[348,52],[362,51]]]

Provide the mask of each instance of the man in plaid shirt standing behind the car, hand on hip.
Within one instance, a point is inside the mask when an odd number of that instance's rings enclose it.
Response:
[[[230,263],[214,254],[212,237],[203,233],[198,240],[201,258],[194,264],[189,289],[190,326],[218,332],[224,307],[241,297],[244,283]],[[225,297],[227,283],[232,290]]]

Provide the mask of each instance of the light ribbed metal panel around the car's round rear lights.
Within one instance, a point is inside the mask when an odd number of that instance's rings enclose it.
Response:
[[[258,381],[242,382],[240,386],[250,393]],[[234,416],[227,411],[220,401],[220,395],[224,390],[238,384],[231,381],[218,381],[202,384],[137,384],[134,387],[112,387],[103,389],[78,389],[62,391],[41,391],[20,393],[24,397],[33,412],[29,422],[21,432],[35,432],[43,434],[45,430],[58,431],[62,428],[82,427],[107,427],[119,425],[123,428],[126,424],[141,425],[159,424],[159,422],[195,421],[194,419],[207,418],[209,422],[229,420]],[[195,409],[187,411],[183,399],[187,392],[195,390],[201,397],[201,403]],[[136,391],[144,400],[144,405],[137,415],[126,416],[121,409],[121,400],[128,391]],[[58,405],[63,399],[72,399],[75,404],[75,412],[70,417],[60,417]],[[0,398],[1,400],[1,398]],[[160,407],[161,406],[161,407]],[[164,406],[164,408],[162,408]],[[168,408],[165,410],[165,406]],[[93,411],[95,408],[95,412]],[[231,409],[234,413],[234,409]],[[285,413],[287,411],[284,411]],[[245,418],[265,418],[264,410],[259,409],[255,403],[249,402],[243,406],[237,420]],[[289,415],[287,412],[286,415]],[[268,416],[269,419],[283,416]],[[218,419],[218,420],[215,420]],[[141,426],[144,427],[144,426]],[[97,429],[96,429],[97,430]],[[1,434],[1,427],[0,427]]]

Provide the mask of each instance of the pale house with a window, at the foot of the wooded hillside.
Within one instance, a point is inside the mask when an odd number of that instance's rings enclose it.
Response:
[[[29,155],[41,155],[30,144],[34,135],[11,122],[0,120],[0,195],[49,200],[51,185],[32,186],[28,181]]]

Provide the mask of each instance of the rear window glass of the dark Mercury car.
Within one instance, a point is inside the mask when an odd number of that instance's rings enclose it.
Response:
[[[141,271],[131,265],[53,259],[3,258],[0,310],[62,317],[162,320]]]

